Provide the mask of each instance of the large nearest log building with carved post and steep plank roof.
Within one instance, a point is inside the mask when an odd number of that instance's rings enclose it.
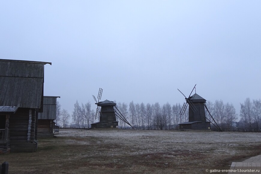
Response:
[[[45,64],[0,59],[0,153],[36,151]]]

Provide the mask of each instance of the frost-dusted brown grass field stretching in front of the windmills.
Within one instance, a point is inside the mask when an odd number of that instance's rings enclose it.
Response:
[[[206,173],[261,154],[261,133],[60,130],[35,153],[0,155],[9,173]]]

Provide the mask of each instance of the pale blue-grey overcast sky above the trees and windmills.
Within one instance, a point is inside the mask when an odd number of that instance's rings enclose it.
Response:
[[[261,1],[1,1],[0,58],[48,61],[44,95],[73,104],[260,99]]]

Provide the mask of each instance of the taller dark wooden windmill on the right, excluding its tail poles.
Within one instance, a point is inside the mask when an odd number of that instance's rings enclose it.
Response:
[[[196,85],[194,86],[193,90],[195,89],[195,87]],[[191,91],[191,93],[193,92],[193,90]],[[182,95],[184,94],[182,93]],[[210,130],[211,122],[206,121],[206,114],[205,114],[206,100],[200,97],[198,94],[196,94],[196,92],[194,95],[192,96],[190,95],[188,98],[184,95],[186,102],[183,104],[183,107],[179,113],[180,115],[184,115],[187,106],[189,106],[188,122],[180,123],[179,129],[180,130],[185,130],[185,129]]]

